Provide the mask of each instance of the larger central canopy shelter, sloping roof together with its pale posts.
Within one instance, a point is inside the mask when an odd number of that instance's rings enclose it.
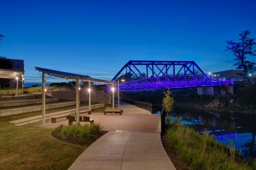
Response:
[[[79,80],[89,82],[89,89],[91,86],[91,82],[97,82],[97,83],[104,83],[104,84],[112,84],[114,87],[114,84],[116,82],[113,81],[108,81],[108,80],[101,80],[97,78],[90,78],[88,76],[82,75],[82,74],[74,74],[70,72],[62,72],[62,71],[57,71],[57,70],[50,70],[47,68],[40,68],[40,67],[35,67],[36,70],[39,72],[42,72],[42,124],[43,126],[45,125],[45,74],[48,74],[49,76],[55,76],[58,78],[65,78],[65,79],[70,79],[70,80],[76,80],[76,122],[79,123],[79,113],[80,113],[80,106],[79,106]],[[89,92],[89,109],[91,108],[91,99],[90,99],[90,90]],[[114,107],[114,90],[112,90],[112,104]]]

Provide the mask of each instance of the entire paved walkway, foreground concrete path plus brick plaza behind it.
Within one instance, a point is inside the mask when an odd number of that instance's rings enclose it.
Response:
[[[90,115],[109,132],[92,143],[69,169],[176,170],[162,145],[160,116],[120,104],[122,115]]]

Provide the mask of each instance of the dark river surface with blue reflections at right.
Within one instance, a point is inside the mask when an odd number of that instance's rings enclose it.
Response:
[[[227,146],[232,142],[237,150],[241,149],[242,155],[256,158],[256,115],[176,110],[176,113],[171,116],[180,117],[183,124],[195,125],[198,131],[206,128],[209,131],[219,132],[219,134],[236,133],[236,137],[219,142]]]

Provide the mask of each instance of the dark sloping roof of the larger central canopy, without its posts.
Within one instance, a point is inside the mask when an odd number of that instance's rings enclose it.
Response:
[[[105,83],[105,84],[116,84],[116,82],[108,81],[108,80],[101,80],[97,78],[90,78],[89,76],[85,76],[82,74],[74,74],[70,72],[63,72],[63,71],[57,71],[57,70],[50,70],[47,68],[40,68],[35,67],[36,70],[40,72],[44,72],[50,76],[55,76],[59,78],[65,78],[65,79],[71,79],[71,80],[84,80],[87,82],[97,82],[97,83]]]

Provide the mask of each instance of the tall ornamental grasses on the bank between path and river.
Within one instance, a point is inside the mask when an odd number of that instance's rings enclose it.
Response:
[[[209,133],[201,135],[189,126],[181,125],[176,119],[166,131],[166,139],[179,153],[182,162],[192,170],[222,169],[248,170],[256,168],[256,161],[243,159],[234,146],[226,147],[212,139]],[[168,146],[168,145],[167,145]]]

